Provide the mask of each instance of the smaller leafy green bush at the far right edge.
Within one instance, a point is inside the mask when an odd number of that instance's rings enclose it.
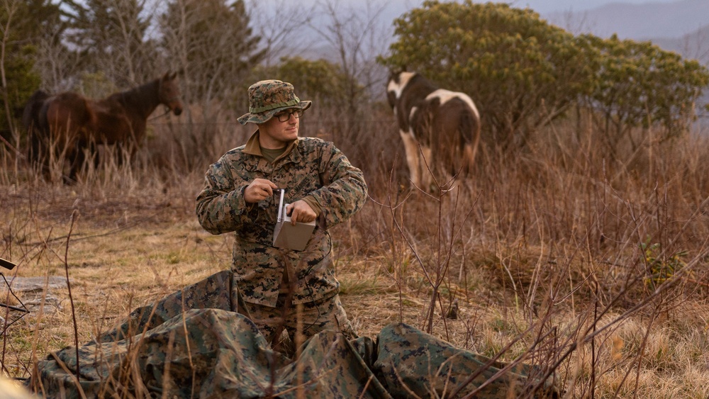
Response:
[[[579,38],[597,51],[593,91],[586,102],[596,124],[604,130],[610,151],[632,128],[661,125],[665,137],[686,130],[695,117],[694,103],[709,84],[709,71],[696,60],[683,60],[675,52],[650,42],[637,43],[584,35]]]

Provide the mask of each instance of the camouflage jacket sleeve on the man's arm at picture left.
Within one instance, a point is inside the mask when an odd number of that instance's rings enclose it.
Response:
[[[232,232],[257,219],[259,208],[244,200],[246,186],[246,181],[233,176],[224,158],[209,167],[196,200],[197,219],[204,230]]]

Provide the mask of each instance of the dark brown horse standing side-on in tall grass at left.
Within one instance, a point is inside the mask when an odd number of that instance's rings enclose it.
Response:
[[[86,154],[98,163],[96,145],[116,145],[133,155],[145,138],[147,118],[160,104],[175,115],[182,113],[177,73],[166,73],[106,99],[87,99],[67,91],[50,96],[36,91],[25,106],[23,124],[30,137],[29,159],[50,176],[50,160],[69,161],[73,182],[86,162]]]

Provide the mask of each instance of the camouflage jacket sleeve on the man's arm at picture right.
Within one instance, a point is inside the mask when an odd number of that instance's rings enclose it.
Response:
[[[323,187],[311,195],[322,207],[325,227],[329,229],[362,209],[367,201],[367,182],[362,171],[352,166],[332,143],[323,148],[319,169]]]

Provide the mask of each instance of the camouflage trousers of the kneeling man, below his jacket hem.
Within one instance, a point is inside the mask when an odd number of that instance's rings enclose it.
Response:
[[[281,293],[275,308],[245,302],[243,306],[246,311],[242,313],[259,327],[262,335],[272,344],[279,343],[276,338],[284,339],[281,337],[284,330],[296,346],[325,330],[341,332],[347,339],[358,337],[347,319],[345,308],[342,308],[339,295],[297,305],[288,302],[287,294]]]

